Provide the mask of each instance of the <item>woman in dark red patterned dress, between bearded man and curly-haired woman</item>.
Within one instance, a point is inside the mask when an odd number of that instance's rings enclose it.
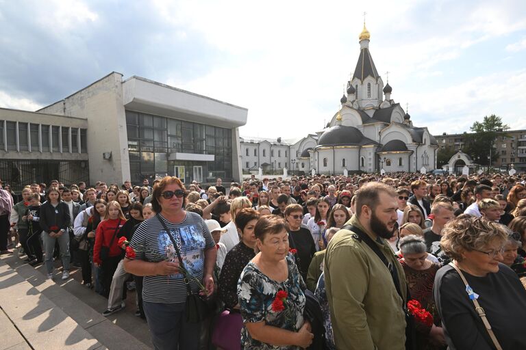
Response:
[[[399,246],[403,257],[399,261],[405,272],[410,295],[420,302],[422,308],[430,312],[434,319],[432,325],[416,323],[416,349],[442,349],[446,341],[433,299],[433,282],[440,264],[427,259],[429,254],[426,252],[423,237],[410,234],[400,240]]]

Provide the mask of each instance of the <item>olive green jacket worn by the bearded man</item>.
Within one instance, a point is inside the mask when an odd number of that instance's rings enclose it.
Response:
[[[353,215],[347,224],[366,230]],[[366,232],[373,241],[375,237]],[[378,247],[398,273],[403,299],[405,274],[388,243]],[[349,230],[340,230],[325,252],[325,288],[337,349],[404,350],[403,302],[386,265]]]

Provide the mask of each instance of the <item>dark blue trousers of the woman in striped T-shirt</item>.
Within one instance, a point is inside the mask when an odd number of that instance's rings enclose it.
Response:
[[[186,304],[142,304],[156,350],[199,350],[201,323],[186,322]]]

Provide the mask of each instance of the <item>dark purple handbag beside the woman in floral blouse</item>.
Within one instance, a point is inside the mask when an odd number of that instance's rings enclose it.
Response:
[[[225,310],[214,323],[212,344],[224,350],[241,350],[243,319],[239,310]]]

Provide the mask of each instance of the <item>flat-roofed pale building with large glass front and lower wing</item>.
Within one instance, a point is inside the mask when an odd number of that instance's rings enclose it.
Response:
[[[166,175],[186,183],[240,180],[238,128],[247,113],[142,77],[123,81],[112,72],[36,112],[0,109],[0,178],[14,185],[52,178],[142,183]],[[37,161],[31,169],[20,169],[31,160]],[[45,161],[58,169],[42,173]],[[81,174],[68,174],[64,162]],[[17,167],[23,176],[12,176]]]

